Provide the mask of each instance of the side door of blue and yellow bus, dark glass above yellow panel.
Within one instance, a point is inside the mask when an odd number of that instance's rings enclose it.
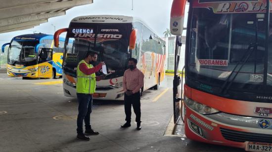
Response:
[[[39,54],[38,77],[51,78],[53,74],[52,68],[53,49],[42,48]]]

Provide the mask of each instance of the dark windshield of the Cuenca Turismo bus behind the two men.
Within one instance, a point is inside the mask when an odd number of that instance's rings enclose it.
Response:
[[[76,77],[78,62],[84,59],[87,51],[92,51],[98,54],[97,62],[91,63],[93,66],[104,61],[107,70],[114,71],[113,74],[108,75],[106,78],[123,76],[129,59],[128,46],[132,26],[118,25],[115,27],[112,25],[110,29],[115,32],[109,32],[110,30],[106,26],[97,26],[96,24],[93,26],[95,27],[93,29],[99,29],[99,33],[94,31],[93,38],[79,38],[76,37],[77,35],[68,33],[70,36],[69,42],[73,41],[73,45],[66,45],[63,64],[64,71]],[[128,31],[129,29],[130,31]],[[102,72],[98,72],[96,75],[102,75]]]

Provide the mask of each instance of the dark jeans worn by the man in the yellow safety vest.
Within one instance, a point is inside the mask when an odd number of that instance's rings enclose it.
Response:
[[[77,93],[78,102],[79,102],[79,114],[77,119],[77,133],[83,134],[83,120],[85,122],[85,128],[91,129],[90,124],[90,115],[91,115],[91,106],[92,106],[92,95]]]

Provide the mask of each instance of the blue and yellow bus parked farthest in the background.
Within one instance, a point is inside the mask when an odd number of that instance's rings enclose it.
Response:
[[[12,38],[8,47],[7,75],[23,78],[56,78],[62,76],[64,38],[54,47],[52,35],[28,34]]]

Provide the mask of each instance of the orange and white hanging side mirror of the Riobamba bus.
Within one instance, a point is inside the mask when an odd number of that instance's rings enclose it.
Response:
[[[181,36],[184,23],[185,4],[187,0],[173,0],[170,19],[170,31],[175,36]]]

